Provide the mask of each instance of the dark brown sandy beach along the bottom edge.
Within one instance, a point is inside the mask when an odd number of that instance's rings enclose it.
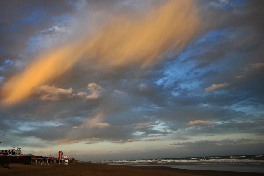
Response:
[[[126,166],[126,165],[107,165],[107,164],[94,164],[94,163],[77,163],[69,165],[61,164],[10,164],[10,169],[0,166],[0,175],[173,175],[173,176],[198,176],[198,175],[212,175],[212,176],[253,176],[264,175],[262,173],[247,173],[247,172],[229,172],[229,171],[210,171],[210,170],[185,170],[175,169],[162,166]]]

